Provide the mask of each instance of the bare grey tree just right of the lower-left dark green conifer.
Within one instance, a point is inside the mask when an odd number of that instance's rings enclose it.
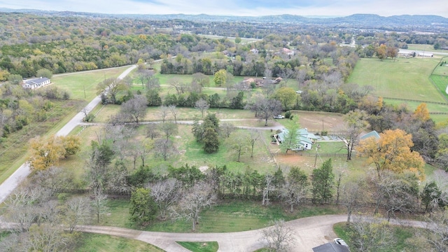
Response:
[[[149,187],[151,188],[151,196],[160,211],[160,218],[165,220],[167,210],[181,198],[182,183],[177,179],[170,178],[153,183]]]

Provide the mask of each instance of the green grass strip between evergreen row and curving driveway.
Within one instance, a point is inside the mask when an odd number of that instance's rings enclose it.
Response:
[[[320,216],[325,214],[343,214],[344,209],[330,205],[306,205],[296,207],[293,213],[286,211],[288,207],[272,204],[263,207],[261,200],[240,201],[229,200],[219,202],[211,209],[205,209],[200,214],[200,223],[196,232],[238,232],[265,228],[269,221],[283,219],[292,221],[296,218]],[[99,225],[111,225],[122,228],[133,228],[158,232],[191,232],[191,221],[155,221],[155,223],[141,228],[129,221],[129,200],[111,200],[110,214]]]

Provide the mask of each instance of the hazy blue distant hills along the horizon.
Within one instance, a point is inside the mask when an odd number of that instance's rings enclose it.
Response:
[[[340,18],[304,17],[300,15],[266,15],[258,17],[230,15],[141,15],[103,14],[71,11],[0,8],[3,13],[29,13],[34,15],[76,16],[90,18],[135,18],[147,20],[190,20],[193,22],[254,22],[302,25],[325,25],[332,27],[356,27],[365,29],[419,29],[425,31],[448,31],[448,18],[437,15],[394,15],[382,17],[374,14],[354,14]]]

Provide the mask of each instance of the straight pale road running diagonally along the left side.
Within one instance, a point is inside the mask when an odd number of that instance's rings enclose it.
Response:
[[[120,74],[120,76],[118,76],[118,78],[125,78],[125,76],[127,76],[127,74],[129,74],[136,67],[137,67],[136,65],[131,66],[126,71],[124,71],[122,74]],[[92,109],[94,109],[94,107],[97,106],[100,102],[101,102],[101,98],[95,97],[92,100],[92,102],[90,102],[85,107],[85,110],[87,111],[87,113],[92,111]],[[62,129],[59,130],[56,133],[56,135],[57,136],[66,136],[67,134],[69,134],[71,132],[71,130],[73,130],[76,126],[78,126],[80,123],[83,122],[83,118],[84,118],[84,113],[79,112],[78,114],[76,114],[76,116],[74,116],[69,121],[69,123],[64,125],[64,127],[62,127]],[[6,181],[1,183],[1,185],[0,185],[0,203],[5,201],[6,198],[8,197],[8,195],[10,195],[10,193],[13,192],[13,190],[15,188],[17,188],[17,186],[20,184],[20,182],[22,182],[25,178],[27,178],[27,176],[30,173],[31,173],[31,170],[29,169],[29,164],[25,163],[25,164],[21,165],[19,167],[19,169],[17,169],[11,176],[9,176],[9,178],[6,179]]]

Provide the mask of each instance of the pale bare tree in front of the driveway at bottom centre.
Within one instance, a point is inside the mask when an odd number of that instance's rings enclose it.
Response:
[[[295,244],[295,232],[288,227],[285,221],[277,220],[269,222],[272,227],[263,228],[262,241],[267,242],[267,246],[274,251],[288,251],[288,248]]]

